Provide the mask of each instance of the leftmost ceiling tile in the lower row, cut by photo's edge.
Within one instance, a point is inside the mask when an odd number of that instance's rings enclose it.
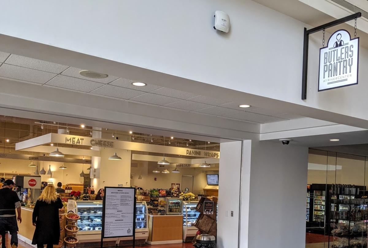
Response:
[[[19,79],[38,84],[45,84],[57,74],[24,68],[15,65],[2,64],[0,67],[0,76],[6,78]]]

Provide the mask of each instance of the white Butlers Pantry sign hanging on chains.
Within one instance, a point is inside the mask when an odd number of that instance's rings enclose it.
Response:
[[[319,50],[318,91],[358,84],[359,38],[340,29]]]

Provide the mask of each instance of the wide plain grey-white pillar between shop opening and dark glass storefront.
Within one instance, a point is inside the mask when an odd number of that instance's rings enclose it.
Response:
[[[307,166],[307,147],[251,141],[251,163],[243,159],[250,187],[249,192],[243,187],[241,195],[241,226],[248,226],[248,237],[247,228],[241,229],[241,248],[305,248]],[[243,206],[248,201],[249,214]]]

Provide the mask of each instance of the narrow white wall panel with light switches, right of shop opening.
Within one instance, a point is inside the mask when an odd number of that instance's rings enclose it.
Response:
[[[241,143],[234,141],[220,144],[218,248],[238,247]],[[231,211],[234,211],[233,217]]]

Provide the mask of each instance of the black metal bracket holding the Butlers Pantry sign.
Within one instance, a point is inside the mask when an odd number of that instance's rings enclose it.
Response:
[[[301,88],[301,99],[307,99],[307,75],[308,75],[308,42],[309,35],[311,33],[315,33],[321,31],[326,28],[330,28],[339,24],[342,24],[347,21],[354,20],[355,18],[359,18],[362,16],[362,13],[358,12],[352,15],[348,15],[347,17],[323,24],[321,26],[308,29],[304,28],[304,46],[303,46],[303,72],[302,72],[302,88]]]

